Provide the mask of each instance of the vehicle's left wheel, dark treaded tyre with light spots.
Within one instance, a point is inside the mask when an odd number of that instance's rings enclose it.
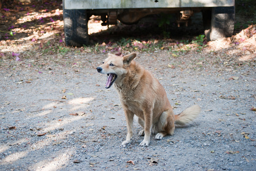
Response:
[[[67,10],[63,1],[63,21],[66,46],[89,44],[86,10]]]

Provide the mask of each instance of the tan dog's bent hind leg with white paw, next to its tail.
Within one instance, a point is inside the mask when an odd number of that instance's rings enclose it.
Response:
[[[158,131],[155,136],[156,140],[161,140],[166,135],[173,135],[175,125],[173,111],[167,110],[161,114],[158,121]]]

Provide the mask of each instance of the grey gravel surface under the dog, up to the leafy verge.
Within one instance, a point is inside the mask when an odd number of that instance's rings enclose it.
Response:
[[[152,135],[148,147],[139,146],[137,123],[132,143],[121,146],[123,109],[95,70],[106,54],[2,60],[0,170],[255,170],[255,59],[239,62],[235,51],[211,48],[178,58],[138,54],[176,114],[202,108],[173,136]]]

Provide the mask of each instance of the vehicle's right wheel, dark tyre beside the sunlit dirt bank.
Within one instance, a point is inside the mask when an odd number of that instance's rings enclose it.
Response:
[[[211,13],[203,12],[203,22],[207,40],[229,37],[234,32],[235,7],[213,7]]]

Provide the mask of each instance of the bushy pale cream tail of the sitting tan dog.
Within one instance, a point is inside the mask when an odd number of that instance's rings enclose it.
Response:
[[[175,124],[185,125],[187,123],[190,123],[198,116],[200,112],[201,108],[199,107],[199,105],[193,105],[185,109],[185,111],[179,113],[179,115],[175,115]]]

